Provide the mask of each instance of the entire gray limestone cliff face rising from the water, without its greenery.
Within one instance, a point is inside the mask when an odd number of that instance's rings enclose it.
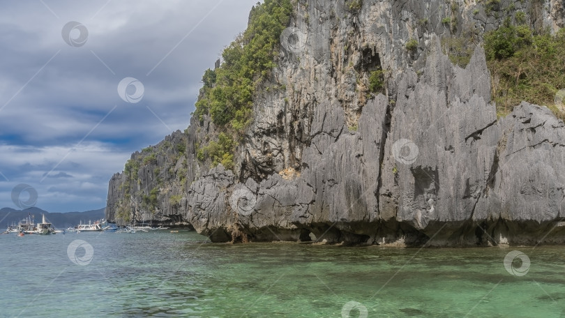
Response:
[[[460,40],[479,43],[511,4],[555,31],[562,4],[448,2],[299,1],[304,36],[283,39],[234,172],[197,159],[218,134],[193,118],[112,177],[107,218],[186,222],[217,242],[565,243],[564,124],[525,103],[497,121],[483,49]],[[444,54],[458,39],[465,68]]]

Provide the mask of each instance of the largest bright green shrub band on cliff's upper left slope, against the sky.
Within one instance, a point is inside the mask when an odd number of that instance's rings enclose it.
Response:
[[[243,130],[252,118],[257,85],[268,77],[292,13],[290,0],[266,0],[253,7],[248,29],[225,48],[223,63],[206,70],[195,115],[210,114],[220,127]]]

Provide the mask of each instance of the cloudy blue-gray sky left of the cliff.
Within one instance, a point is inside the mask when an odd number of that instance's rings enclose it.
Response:
[[[108,181],[132,152],[188,126],[204,70],[246,28],[255,3],[3,3],[0,208],[104,207]],[[139,82],[126,80],[120,96],[126,77]]]

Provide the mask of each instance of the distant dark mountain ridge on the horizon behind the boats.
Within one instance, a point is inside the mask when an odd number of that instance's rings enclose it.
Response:
[[[24,210],[3,208],[0,209],[0,231],[8,227],[8,225],[17,225],[17,222],[24,218],[27,218],[28,215],[33,216],[33,219],[35,220],[34,222],[37,223],[41,222],[42,214],[45,214],[45,218],[47,218],[47,220],[51,222],[56,229],[66,229],[67,227],[74,227],[80,222],[88,223],[89,220],[91,220],[92,222],[100,220],[104,218],[104,213],[105,208],[84,212],[67,213],[50,213],[36,207]]]

